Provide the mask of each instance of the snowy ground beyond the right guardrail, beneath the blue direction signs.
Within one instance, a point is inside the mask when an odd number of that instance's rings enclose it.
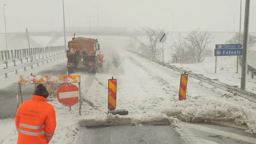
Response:
[[[252,58],[250,58],[252,60]],[[204,74],[204,76],[212,79],[219,79],[225,84],[239,86],[241,84],[241,67],[239,65],[238,74],[236,73],[236,56],[217,57],[217,74],[215,74],[215,57],[205,57],[202,63],[193,64],[179,64],[170,63],[177,67],[182,67],[185,70],[192,70],[197,74]],[[251,78],[251,73],[247,75],[246,90],[256,93],[256,79]]]

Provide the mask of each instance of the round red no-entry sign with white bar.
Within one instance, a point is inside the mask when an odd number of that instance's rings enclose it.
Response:
[[[64,106],[75,105],[78,95],[78,87],[74,84],[63,84],[57,91],[57,99]]]

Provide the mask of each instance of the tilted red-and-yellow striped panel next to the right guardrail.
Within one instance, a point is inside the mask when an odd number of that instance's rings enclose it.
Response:
[[[188,76],[189,76],[188,74],[181,74],[180,76],[179,100],[186,100]]]

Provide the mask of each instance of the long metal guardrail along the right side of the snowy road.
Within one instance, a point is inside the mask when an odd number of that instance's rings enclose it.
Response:
[[[245,90],[242,90],[236,86],[231,86],[231,85],[228,85],[228,84],[224,84],[222,82],[219,82],[218,79],[211,79],[211,78],[207,78],[207,77],[204,77],[203,75],[200,75],[200,74],[195,74],[193,73],[192,71],[187,71],[187,70],[184,70],[183,68],[178,68],[176,66],[172,66],[170,64],[167,64],[167,63],[164,63],[164,62],[160,62],[158,60],[155,60],[155,59],[152,59],[150,57],[147,57],[141,53],[138,53],[136,51],[133,51],[133,50],[130,50],[130,49],[126,49],[127,51],[130,51],[130,52],[133,52],[135,54],[138,54],[139,56],[141,57],[144,57],[144,58],[147,58],[155,63],[158,63],[159,65],[162,65],[162,66],[165,66],[169,69],[173,69],[174,71],[177,71],[177,72],[180,72],[180,73],[186,73],[186,74],[189,74],[190,77],[192,78],[195,78],[199,81],[203,81],[207,84],[210,84],[214,87],[218,87],[222,90],[225,90],[227,92],[230,92],[230,93],[233,93],[234,95],[238,95],[240,97],[243,97],[247,100],[250,100],[252,102],[255,102],[256,103],[256,94],[255,93],[251,93],[251,92],[248,92],[248,91],[245,91]]]

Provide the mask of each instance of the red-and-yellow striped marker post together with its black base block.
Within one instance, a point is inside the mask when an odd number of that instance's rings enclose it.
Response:
[[[117,101],[117,79],[108,80],[108,114],[112,115],[128,115],[128,110],[126,109],[116,109]]]

